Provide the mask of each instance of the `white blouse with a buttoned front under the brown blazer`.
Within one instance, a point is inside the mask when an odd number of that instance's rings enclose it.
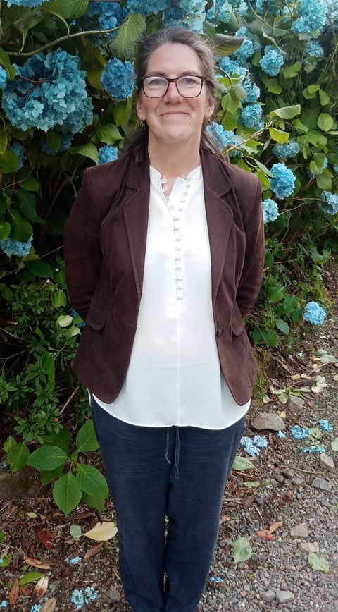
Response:
[[[148,427],[223,429],[246,413],[220,370],[211,302],[211,257],[201,166],[170,197],[150,168],[142,299],[127,377],[114,417]]]

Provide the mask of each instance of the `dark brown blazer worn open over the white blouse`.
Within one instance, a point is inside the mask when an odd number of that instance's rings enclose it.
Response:
[[[243,405],[257,374],[243,317],[261,286],[261,185],[211,152],[201,151],[201,163],[218,355],[230,391]],[[130,362],[142,294],[149,190],[149,160],[136,166],[126,155],[87,168],[65,226],[68,293],[86,322],[73,368],[89,391],[106,402],[118,396]]]

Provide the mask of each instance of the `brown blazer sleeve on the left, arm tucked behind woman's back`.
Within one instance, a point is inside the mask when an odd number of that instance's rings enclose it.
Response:
[[[89,169],[65,224],[65,279],[71,305],[86,319],[102,262],[101,221]]]

